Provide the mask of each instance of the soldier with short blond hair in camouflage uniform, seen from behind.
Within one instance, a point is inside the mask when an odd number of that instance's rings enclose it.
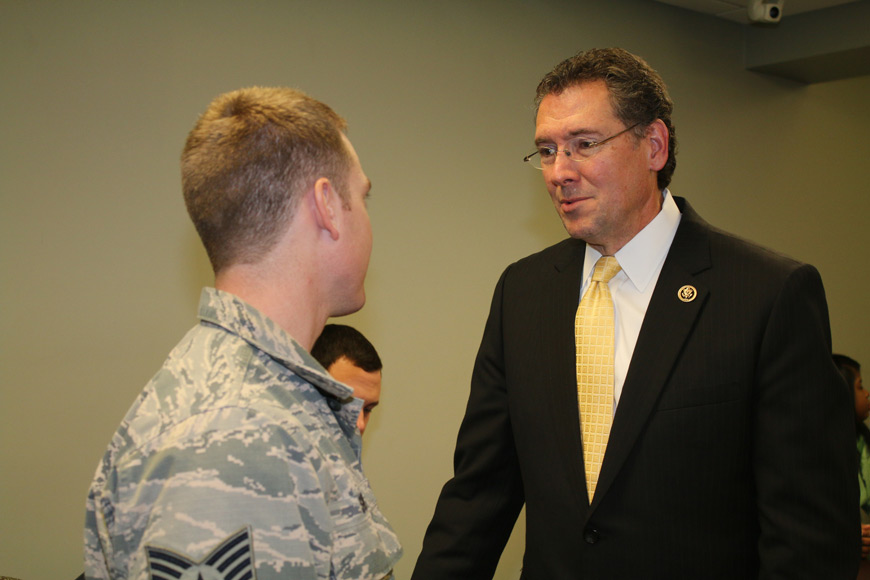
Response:
[[[362,402],[308,353],[365,301],[370,183],[344,130],[298,91],[255,88],[218,97],[188,137],[215,288],[97,468],[87,578],[392,578]]]

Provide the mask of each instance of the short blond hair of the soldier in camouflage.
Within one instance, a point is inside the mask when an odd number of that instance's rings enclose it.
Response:
[[[318,178],[329,178],[344,199],[352,163],[346,128],[295,89],[253,87],[212,101],[187,137],[181,183],[215,273],[261,259]]]

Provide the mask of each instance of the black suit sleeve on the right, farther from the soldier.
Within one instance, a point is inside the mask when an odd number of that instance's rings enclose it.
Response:
[[[857,574],[854,410],[830,353],[822,282],[804,265],[772,306],[757,367],[760,578]]]

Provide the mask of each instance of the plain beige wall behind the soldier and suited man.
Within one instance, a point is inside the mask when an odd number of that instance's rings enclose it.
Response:
[[[520,159],[537,81],[579,49],[621,45],[659,69],[673,191],[815,263],[835,348],[870,364],[870,77],[746,72],[741,34],[641,0],[0,3],[0,576],[81,570],[94,468],[210,283],[182,142],[240,86],[328,102],[374,183],[369,303],[349,322],[386,364],[364,459],[404,541],[399,578],[451,472],[495,281],[564,235]],[[499,578],[520,562],[512,544]]]

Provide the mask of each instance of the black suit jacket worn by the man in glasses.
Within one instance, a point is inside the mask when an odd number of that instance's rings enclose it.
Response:
[[[819,274],[677,203],[592,505],[573,329],[585,245],[566,240],[498,282],[413,580],[491,578],[524,502],[525,580],[855,578],[853,398]]]

